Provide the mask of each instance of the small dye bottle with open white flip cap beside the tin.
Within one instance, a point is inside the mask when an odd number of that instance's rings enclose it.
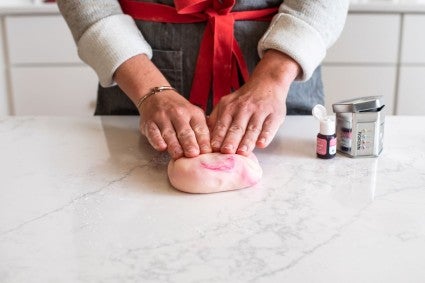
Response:
[[[336,155],[335,120],[327,116],[323,105],[313,108],[313,116],[320,121],[320,132],[317,134],[316,155],[318,158],[331,159]]]

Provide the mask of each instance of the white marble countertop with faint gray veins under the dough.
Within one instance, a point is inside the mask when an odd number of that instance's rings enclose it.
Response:
[[[137,117],[0,118],[0,282],[424,282],[424,124],[320,160],[290,116],[256,187],[190,195]]]

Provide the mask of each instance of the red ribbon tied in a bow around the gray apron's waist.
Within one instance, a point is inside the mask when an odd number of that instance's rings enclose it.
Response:
[[[120,0],[124,13],[137,20],[164,23],[207,22],[193,77],[190,102],[206,110],[213,90],[213,104],[240,87],[239,74],[248,79],[248,68],[235,39],[238,20],[270,21],[277,8],[232,12],[236,0],[175,0],[174,5]]]

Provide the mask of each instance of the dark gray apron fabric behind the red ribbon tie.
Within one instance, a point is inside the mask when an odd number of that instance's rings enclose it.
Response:
[[[144,2],[173,6],[173,0]],[[239,0],[233,10],[278,7],[281,3],[281,0]],[[170,84],[188,98],[205,23],[169,24],[136,21],[136,24],[153,49],[153,63]],[[249,72],[252,72],[260,60],[257,44],[268,26],[269,23],[258,21],[235,23],[235,37],[242,49]],[[208,103],[207,113],[212,109],[211,100]],[[311,109],[318,103],[324,103],[320,67],[307,82],[292,83],[286,100],[287,114],[310,115]],[[138,111],[118,86],[108,88],[99,86],[95,115],[138,115]]]

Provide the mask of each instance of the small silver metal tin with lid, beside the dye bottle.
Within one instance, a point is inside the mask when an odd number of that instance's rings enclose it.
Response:
[[[379,156],[384,144],[384,107],[382,96],[334,103],[338,152],[350,157]]]

